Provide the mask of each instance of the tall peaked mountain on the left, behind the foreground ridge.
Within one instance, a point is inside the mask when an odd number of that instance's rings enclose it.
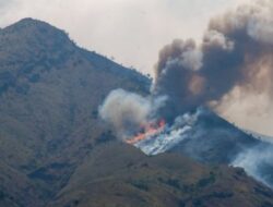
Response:
[[[97,108],[105,96],[118,87],[145,94],[149,85],[47,23],[25,19],[1,29],[1,171],[24,174],[50,197],[104,136]]]

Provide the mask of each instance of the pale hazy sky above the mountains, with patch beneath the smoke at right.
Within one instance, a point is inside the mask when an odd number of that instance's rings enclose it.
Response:
[[[165,45],[177,38],[201,40],[212,16],[246,1],[251,0],[0,0],[0,27],[23,17],[46,21],[79,46],[153,75]],[[273,110],[261,117],[249,114],[244,102],[234,106],[223,114],[229,121],[273,135]]]

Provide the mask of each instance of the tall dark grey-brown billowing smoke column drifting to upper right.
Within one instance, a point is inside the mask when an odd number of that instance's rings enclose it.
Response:
[[[235,88],[266,93],[273,82],[273,1],[257,1],[211,20],[200,45],[174,40],[159,53],[154,96],[167,95],[169,120],[199,106],[217,107]]]

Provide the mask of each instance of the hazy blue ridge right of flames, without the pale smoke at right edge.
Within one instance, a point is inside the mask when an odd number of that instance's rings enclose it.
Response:
[[[229,163],[238,153],[259,143],[206,108],[199,108],[177,120],[176,130],[167,127],[162,136],[139,143],[140,148],[149,155],[176,151],[201,162]],[[171,136],[176,131],[180,131],[178,136]]]

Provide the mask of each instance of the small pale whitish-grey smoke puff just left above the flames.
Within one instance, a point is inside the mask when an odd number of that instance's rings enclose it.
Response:
[[[123,89],[112,90],[99,107],[99,115],[123,139],[130,138],[153,119],[166,98],[142,97]]]

